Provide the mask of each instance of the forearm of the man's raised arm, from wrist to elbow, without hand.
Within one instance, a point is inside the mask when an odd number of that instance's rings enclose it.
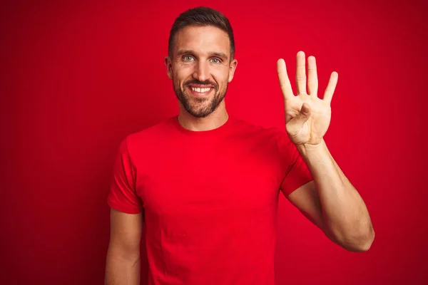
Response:
[[[342,247],[352,251],[370,248],[374,231],[360,194],[344,175],[322,140],[320,145],[298,146],[312,173],[327,229]]]

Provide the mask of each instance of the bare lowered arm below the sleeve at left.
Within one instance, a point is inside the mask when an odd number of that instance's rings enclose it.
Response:
[[[140,284],[142,214],[111,209],[111,236],[106,260],[106,285]]]

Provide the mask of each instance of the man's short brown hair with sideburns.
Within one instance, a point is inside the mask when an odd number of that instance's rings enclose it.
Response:
[[[228,33],[230,41],[230,60],[233,59],[235,55],[235,39],[233,38],[232,26],[230,26],[228,18],[220,11],[208,7],[188,9],[175,19],[168,40],[168,53],[170,56],[173,54],[175,33],[186,26],[215,26]]]

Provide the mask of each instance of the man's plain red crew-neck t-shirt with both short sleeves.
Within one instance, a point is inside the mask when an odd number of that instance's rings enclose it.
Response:
[[[149,284],[275,284],[277,202],[312,180],[285,131],[177,116],[128,135],[108,204],[144,211]]]

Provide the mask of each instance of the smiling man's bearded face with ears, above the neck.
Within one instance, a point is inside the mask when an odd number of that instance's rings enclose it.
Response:
[[[195,118],[213,113],[225,97],[237,61],[230,61],[228,33],[214,26],[187,26],[175,34],[165,57],[175,95]]]

